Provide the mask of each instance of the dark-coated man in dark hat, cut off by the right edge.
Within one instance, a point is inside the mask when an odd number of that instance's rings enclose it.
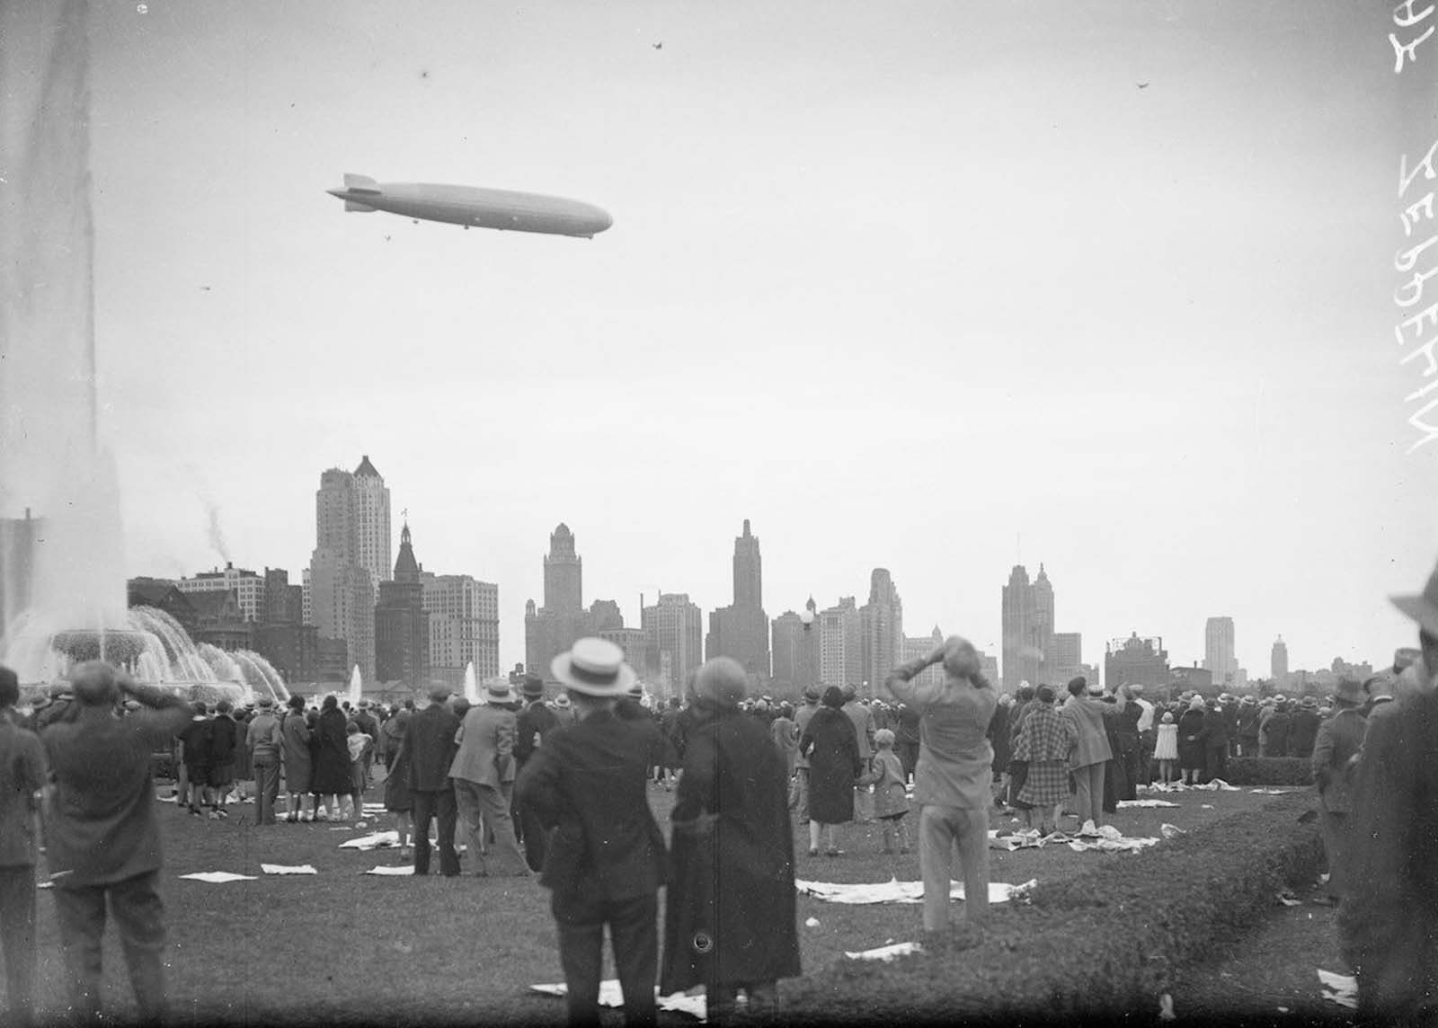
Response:
[[[1418,623],[1421,656],[1363,736],[1339,932],[1359,1015],[1428,1024],[1438,996],[1438,569],[1421,594],[1391,600]]]

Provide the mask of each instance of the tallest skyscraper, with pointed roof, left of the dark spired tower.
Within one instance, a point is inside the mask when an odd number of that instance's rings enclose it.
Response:
[[[354,473],[332,467],[319,476],[316,545],[309,561],[311,617],[321,638],[345,640],[348,658],[365,679],[375,673],[377,591],[391,575],[388,532],[390,490],[368,456]]]

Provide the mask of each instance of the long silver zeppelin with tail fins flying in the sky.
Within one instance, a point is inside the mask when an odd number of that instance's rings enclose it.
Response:
[[[477,185],[377,183],[368,175],[345,175],[342,190],[325,193],[344,200],[348,211],[368,214],[383,210],[416,221],[446,221],[466,229],[594,239],[595,233],[614,224],[614,219],[594,204]]]

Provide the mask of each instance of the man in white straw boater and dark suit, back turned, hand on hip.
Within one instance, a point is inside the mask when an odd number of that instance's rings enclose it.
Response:
[[[626,1024],[654,1024],[659,963],[656,894],[664,837],[646,797],[644,726],[614,716],[634,684],[624,651],[581,638],[549,666],[574,702],[575,723],[552,733],[519,775],[519,802],[549,831],[539,884],[552,891],[569,1024],[598,1024],[604,926],[624,992]]]

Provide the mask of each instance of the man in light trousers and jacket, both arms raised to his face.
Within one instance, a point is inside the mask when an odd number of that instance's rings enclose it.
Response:
[[[913,681],[938,663],[943,664],[942,683]],[[884,681],[923,717],[913,798],[919,804],[925,932],[940,932],[949,923],[955,850],[963,878],[963,919],[976,924],[988,917],[988,811],[994,802],[988,726],[998,693],[979,669],[974,644],[951,635],[929,656],[896,667]]]

